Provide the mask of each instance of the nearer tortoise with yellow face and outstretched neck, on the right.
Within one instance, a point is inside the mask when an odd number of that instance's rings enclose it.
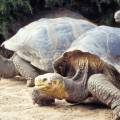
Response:
[[[120,29],[98,26],[81,35],[54,61],[54,73],[35,78],[32,99],[39,93],[78,104],[93,97],[120,119]]]

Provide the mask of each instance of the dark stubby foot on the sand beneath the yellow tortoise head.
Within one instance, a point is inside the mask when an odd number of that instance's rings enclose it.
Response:
[[[32,100],[34,104],[38,104],[39,106],[49,106],[55,103],[55,99],[53,97],[50,97],[38,90],[33,90]]]

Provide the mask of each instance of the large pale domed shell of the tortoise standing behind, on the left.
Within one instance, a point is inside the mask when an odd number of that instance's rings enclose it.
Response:
[[[21,28],[3,43],[35,67],[51,71],[52,61],[61,55],[82,33],[96,27],[86,20],[61,17],[43,18]]]

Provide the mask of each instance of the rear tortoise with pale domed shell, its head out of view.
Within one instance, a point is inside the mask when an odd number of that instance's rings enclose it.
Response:
[[[1,64],[9,63],[5,73],[7,75],[12,73],[13,76],[20,73],[27,80],[27,86],[34,86],[35,77],[53,72],[52,62],[70,46],[73,40],[95,27],[96,25],[89,21],[70,17],[42,18],[30,23],[3,42],[3,47],[15,52],[11,60],[1,59]],[[3,74],[2,70],[1,73]],[[43,94],[41,96],[48,100],[47,96]],[[41,104],[53,101],[50,99],[46,102],[47,100],[43,100]]]

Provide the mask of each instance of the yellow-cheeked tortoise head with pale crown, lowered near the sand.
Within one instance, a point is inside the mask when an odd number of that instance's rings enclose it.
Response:
[[[64,79],[58,73],[47,73],[44,75],[39,75],[35,78],[35,89],[33,92],[34,96],[35,93],[40,92],[57,99],[64,99],[68,97]]]

